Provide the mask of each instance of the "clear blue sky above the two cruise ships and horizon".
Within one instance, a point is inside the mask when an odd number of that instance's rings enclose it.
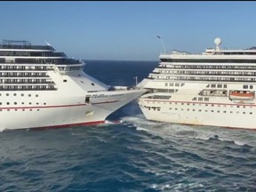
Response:
[[[85,60],[158,60],[167,51],[256,45],[256,2],[0,2],[0,39],[49,42]]]

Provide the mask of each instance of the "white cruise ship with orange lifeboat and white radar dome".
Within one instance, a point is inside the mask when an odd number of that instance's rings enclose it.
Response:
[[[256,48],[215,48],[194,54],[161,53],[139,87],[138,103],[148,120],[175,124],[256,129]]]

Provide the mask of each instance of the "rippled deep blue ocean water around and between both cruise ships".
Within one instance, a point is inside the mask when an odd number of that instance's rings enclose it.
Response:
[[[111,85],[157,65],[86,63]],[[0,191],[256,191],[256,132],[151,122],[132,101],[106,124],[0,132]]]

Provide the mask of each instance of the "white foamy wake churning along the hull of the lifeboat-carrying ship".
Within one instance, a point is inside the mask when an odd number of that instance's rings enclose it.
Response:
[[[189,138],[194,140],[220,140],[223,142],[233,142],[236,146],[256,147],[256,135],[243,130],[227,130],[221,127],[195,126],[188,124],[172,124],[163,122],[154,122],[147,120],[143,115],[124,116],[123,124],[131,124],[137,131],[148,132],[162,138],[168,136],[177,138]],[[250,138],[252,137],[252,138]]]

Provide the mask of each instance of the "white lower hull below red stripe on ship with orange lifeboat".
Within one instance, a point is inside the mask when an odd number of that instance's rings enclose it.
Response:
[[[256,116],[253,112],[256,109],[255,104],[239,104],[239,108],[237,108],[234,103],[205,104],[184,100],[146,100],[140,98],[139,105],[144,116],[152,121],[256,129]],[[148,109],[148,106],[151,108]],[[160,109],[157,110],[157,107]]]

